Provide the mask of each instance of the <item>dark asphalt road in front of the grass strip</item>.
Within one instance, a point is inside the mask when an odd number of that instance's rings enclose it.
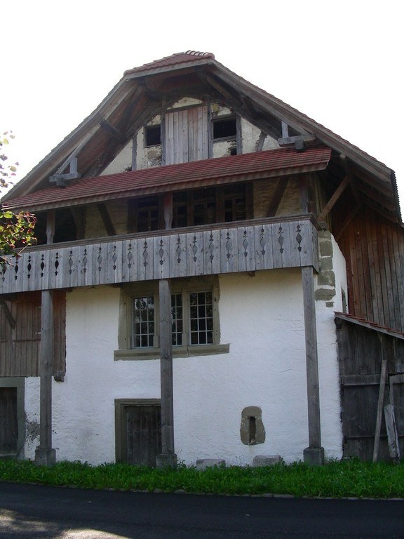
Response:
[[[404,501],[86,491],[0,482],[0,538],[404,538]]]

